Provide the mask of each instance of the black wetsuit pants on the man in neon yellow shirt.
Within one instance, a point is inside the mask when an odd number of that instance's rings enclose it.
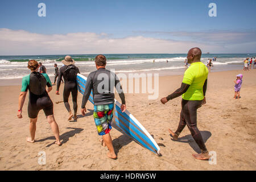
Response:
[[[175,134],[179,136],[181,131],[187,125],[189,131],[191,132],[192,137],[195,139],[197,145],[200,147],[203,153],[207,152],[207,148],[205,147],[204,140],[201,136],[199,129],[197,129],[197,109],[201,107],[201,101],[181,101],[181,112],[180,112],[180,122]]]

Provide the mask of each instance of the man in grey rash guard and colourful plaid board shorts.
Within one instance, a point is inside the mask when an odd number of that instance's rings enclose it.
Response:
[[[93,118],[96,124],[98,135],[102,135],[102,146],[107,146],[109,149],[108,157],[116,159],[110,130],[112,129],[112,118],[114,109],[114,87],[122,100],[121,110],[126,110],[125,94],[123,93],[122,86],[119,78],[115,73],[106,69],[106,57],[104,55],[97,55],[95,57],[95,64],[97,71],[91,72],[88,75],[84,96],[82,97],[81,113],[85,115],[86,102],[93,90],[94,111]],[[103,85],[102,85],[103,83]]]

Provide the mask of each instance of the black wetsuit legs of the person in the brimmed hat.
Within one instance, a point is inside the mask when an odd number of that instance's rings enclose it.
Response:
[[[63,101],[65,104],[66,109],[70,112],[70,106],[68,103],[68,97],[72,94],[72,101],[73,101],[73,109],[74,114],[77,113],[77,84],[76,82],[65,82],[64,91],[63,91]]]

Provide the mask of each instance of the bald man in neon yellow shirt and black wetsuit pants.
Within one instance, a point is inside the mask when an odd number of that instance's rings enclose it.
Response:
[[[161,99],[162,104],[181,96],[180,122],[175,133],[169,129],[170,134],[177,140],[181,131],[187,125],[192,137],[201,149],[200,154],[192,154],[194,158],[209,159],[209,153],[204,140],[197,128],[197,109],[206,103],[205,93],[207,90],[208,69],[201,63],[201,49],[192,48],[188,51],[187,59],[191,66],[185,71],[183,81],[179,89],[167,97]]]

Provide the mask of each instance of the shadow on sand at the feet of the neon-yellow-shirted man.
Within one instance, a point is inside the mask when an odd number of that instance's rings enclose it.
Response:
[[[210,131],[200,131],[204,143],[207,142],[207,140],[210,138],[210,136],[212,135],[212,133],[210,133]],[[172,137],[172,135],[170,134],[170,136]],[[197,146],[195,140],[193,139],[192,135],[185,135],[184,137],[179,137],[177,142],[182,142],[182,143],[188,143],[189,146],[191,146],[191,148],[193,148],[193,150],[195,152],[197,152],[198,154],[201,153],[201,150],[199,148],[199,146]]]

